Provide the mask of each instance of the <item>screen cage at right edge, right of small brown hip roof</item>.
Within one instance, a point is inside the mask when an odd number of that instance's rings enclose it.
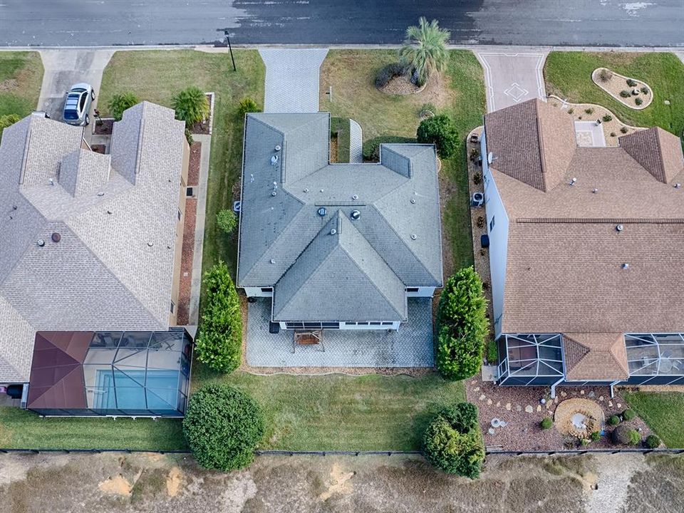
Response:
[[[628,383],[684,383],[684,333],[626,333]]]

